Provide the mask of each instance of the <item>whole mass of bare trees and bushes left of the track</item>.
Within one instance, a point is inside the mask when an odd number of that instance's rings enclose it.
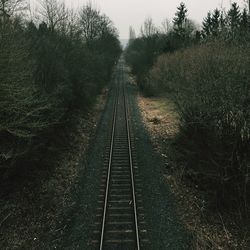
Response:
[[[44,157],[57,128],[95,102],[121,53],[112,22],[91,4],[75,13],[42,0],[33,20],[26,7],[0,1],[0,168]]]

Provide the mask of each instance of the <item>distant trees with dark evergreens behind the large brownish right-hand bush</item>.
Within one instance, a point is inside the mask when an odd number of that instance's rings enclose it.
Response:
[[[135,31],[130,28],[126,60],[143,93],[153,95],[157,90],[147,81],[147,77],[159,55],[213,40],[247,44],[250,40],[249,30],[249,14],[246,9],[240,10],[236,3],[233,3],[227,12],[219,9],[208,12],[201,29],[188,18],[188,9],[181,3],[173,20],[166,18],[161,27],[148,18],[141,27],[139,37],[136,37]]]

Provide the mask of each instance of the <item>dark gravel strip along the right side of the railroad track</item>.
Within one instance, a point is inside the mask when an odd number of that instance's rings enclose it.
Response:
[[[189,249],[190,236],[178,218],[174,197],[164,180],[164,163],[153,149],[141,118],[136,86],[129,85],[128,93],[152,249]]]

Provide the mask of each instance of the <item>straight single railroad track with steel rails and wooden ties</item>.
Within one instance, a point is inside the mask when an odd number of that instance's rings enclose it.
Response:
[[[116,96],[107,143],[92,243],[100,250],[149,249],[142,183],[129,121],[123,61],[116,73]]]

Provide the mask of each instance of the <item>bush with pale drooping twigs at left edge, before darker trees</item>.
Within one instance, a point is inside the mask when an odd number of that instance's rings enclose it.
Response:
[[[15,29],[1,35],[0,161],[13,164],[32,148],[35,136],[60,121],[63,110],[36,86],[27,41]]]

